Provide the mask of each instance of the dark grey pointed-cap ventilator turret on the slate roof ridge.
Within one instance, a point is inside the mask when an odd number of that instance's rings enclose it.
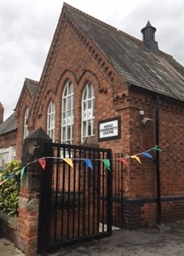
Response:
[[[153,54],[158,55],[158,42],[155,41],[156,28],[147,21],[147,25],[141,29],[143,34],[143,41],[147,44],[147,48],[152,51]]]

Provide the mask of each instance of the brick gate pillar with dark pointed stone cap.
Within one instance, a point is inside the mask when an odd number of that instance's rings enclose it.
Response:
[[[45,131],[38,128],[26,137],[23,145],[21,160],[23,166],[28,166],[20,182],[19,217],[15,236],[17,247],[26,255],[35,255],[37,252],[40,174],[43,172],[37,159],[44,156],[43,144],[51,142]]]

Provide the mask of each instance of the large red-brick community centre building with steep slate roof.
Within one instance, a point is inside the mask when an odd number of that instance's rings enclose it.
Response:
[[[17,157],[24,131],[40,126],[53,141],[80,144],[90,137],[113,153],[143,152],[156,144],[159,97],[162,213],[175,220],[184,218],[184,68],[158,49],[149,22],[141,32],[143,41],[64,3],[41,79],[26,79],[15,108]],[[143,118],[151,124],[143,125]],[[100,124],[108,120],[118,122],[115,139],[101,139]],[[155,163],[129,159],[123,192],[127,225],[152,224]]]

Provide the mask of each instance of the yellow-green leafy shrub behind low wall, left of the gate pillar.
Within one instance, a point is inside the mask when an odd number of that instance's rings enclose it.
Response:
[[[1,181],[9,177],[5,183],[0,185],[0,211],[7,212],[8,215],[15,216],[18,213],[20,170],[20,160],[12,160],[0,172]]]

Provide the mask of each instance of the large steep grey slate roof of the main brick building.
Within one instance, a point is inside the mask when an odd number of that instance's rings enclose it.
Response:
[[[184,101],[184,67],[159,50],[154,55],[145,42],[64,3],[83,32],[95,43],[125,82]]]

